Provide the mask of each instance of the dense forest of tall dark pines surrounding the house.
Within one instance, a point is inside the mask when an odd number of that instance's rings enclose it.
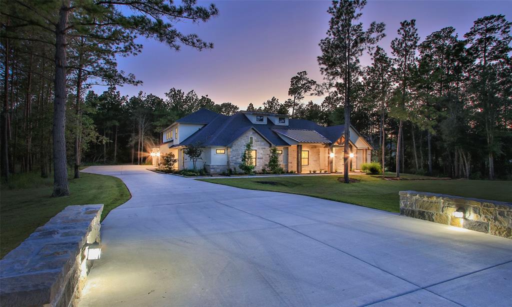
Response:
[[[391,26],[396,38],[388,54],[379,45],[386,26],[372,23],[364,30],[358,21],[365,4],[335,1],[329,8],[332,17],[318,57],[324,80],[299,72],[290,79],[289,97],[271,97],[247,109],[322,125],[349,122],[375,148],[373,159],[397,176],[406,171],[510,179],[510,21],[503,15],[484,16],[462,35],[447,25],[420,38],[415,20],[404,20]],[[123,5],[139,14],[124,15]],[[116,56],[140,53],[136,35],[172,49],[212,48],[173,25],[180,18],[207,21],[217,13],[215,6],[186,2],[184,7],[162,7],[157,0],[145,5],[129,0],[4,4],[3,178],[34,170],[49,176],[62,171],[62,161],[75,177],[84,162],[144,163],[147,149],[160,142],[160,130],[176,119],[201,107],[226,115],[239,111],[233,103],[215,103],[194,91],[173,88],[162,98],[142,92],[127,97],[116,89],[141,83],[116,63]],[[164,17],[170,21],[162,26],[158,18]],[[59,32],[61,23],[67,27]],[[65,47],[59,45],[62,33]],[[365,52],[372,59],[367,67],[359,63]],[[90,91],[97,84],[106,90]],[[312,96],[324,97],[323,102],[309,101]],[[66,189],[62,178],[56,181],[57,190]]]

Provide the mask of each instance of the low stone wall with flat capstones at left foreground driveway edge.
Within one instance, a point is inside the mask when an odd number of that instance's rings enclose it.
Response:
[[[99,241],[101,211],[68,206],[0,260],[2,306],[75,306],[92,266],[85,245]]]

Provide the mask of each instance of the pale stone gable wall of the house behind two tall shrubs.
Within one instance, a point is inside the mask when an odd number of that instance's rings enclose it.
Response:
[[[256,150],[256,167],[254,168],[255,171],[261,172],[262,168],[266,167],[270,156],[270,144],[256,131],[250,129],[236,141],[234,141],[231,145],[231,148],[228,150],[229,168],[236,167],[240,169],[245,145],[249,143],[250,138],[252,138],[252,149]]]

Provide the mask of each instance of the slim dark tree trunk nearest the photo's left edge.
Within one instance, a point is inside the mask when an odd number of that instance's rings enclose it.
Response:
[[[9,23],[9,21],[7,22]],[[2,177],[5,181],[9,180],[9,141],[8,141],[8,129],[9,129],[9,39],[6,38],[5,42],[5,68],[4,68],[4,107],[2,110]]]

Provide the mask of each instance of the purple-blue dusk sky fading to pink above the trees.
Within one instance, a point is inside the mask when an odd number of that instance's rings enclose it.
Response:
[[[174,51],[163,43],[138,38],[144,48],[137,56],[118,58],[120,70],[135,74],[142,85],[118,87],[123,95],[139,91],[165,98],[172,87],[194,90],[216,103],[231,102],[241,109],[275,96],[288,98],[290,78],[307,71],[318,82],[323,77],[316,57],[319,41],[326,36],[330,1],[199,1],[214,3],[220,14],[206,23],[182,22],[183,33],[197,33],[214,49],[201,52],[183,46]],[[430,33],[452,26],[462,37],[479,17],[504,14],[512,19],[509,1],[388,1],[368,0],[361,21],[386,24],[386,37],[378,45],[391,55],[391,40],[400,21],[416,19],[420,41]],[[370,57],[361,58],[364,65]],[[103,89],[95,89],[103,91]],[[318,97],[306,97],[321,102]]]

